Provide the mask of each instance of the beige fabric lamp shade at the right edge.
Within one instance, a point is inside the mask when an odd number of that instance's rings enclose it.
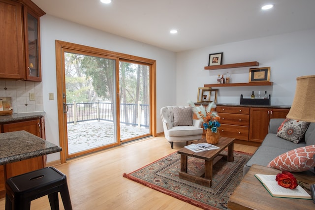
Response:
[[[315,75],[296,78],[294,100],[286,117],[315,122]]]

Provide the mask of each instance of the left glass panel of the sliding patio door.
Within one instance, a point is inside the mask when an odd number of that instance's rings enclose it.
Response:
[[[68,158],[117,145],[116,60],[64,53]]]

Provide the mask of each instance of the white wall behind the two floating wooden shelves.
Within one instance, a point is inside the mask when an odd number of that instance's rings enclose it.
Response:
[[[208,46],[177,53],[177,104],[197,100],[198,87],[214,84],[218,74],[228,71],[232,83],[249,81],[250,67],[204,70],[209,54],[223,52],[223,64],[258,61],[259,67],[271,67],[273,86],[220,87],[217,103],[240,103],[240,95],[250,96],[267,90],[272,105],[291,105],[295,93],[296,77],[314,75],[315,30],[269,36],[264,38]],[[254,67],[253,67],[254,68]],[[189,84],[189,85],[187,85]],[[213,88],[215,89],[215,88]]]

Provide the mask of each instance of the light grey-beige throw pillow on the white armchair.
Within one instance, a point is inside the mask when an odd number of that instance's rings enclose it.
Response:
[[[192,126],[192,109],[190,107],[187,108],[174,108],[173,109],[173,117],[174,117],[174,126],[183,126],[188,125]]]

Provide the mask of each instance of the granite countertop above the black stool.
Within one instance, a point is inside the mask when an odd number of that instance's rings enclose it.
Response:
[[[24,130],[0,133],[0,165],[61,150],[61,147]]]

